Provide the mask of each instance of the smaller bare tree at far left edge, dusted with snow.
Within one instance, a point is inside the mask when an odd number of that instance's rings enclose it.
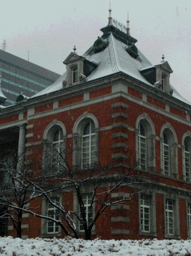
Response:
[[[27,151],[24,152],[24,155]],[[14,153],[11,156],[15,155]],[[33,165],[20,164],[20,155],[17,159],[14,157],[3,158],[0,161],[0,219],[10,219],[17,232],[17,237],[22,237],[22,214],[27,210],[37,210],[37,208],[28,207],[29,203],[35,199],[41,199],[43,192],[56,191],[57,183],[54,179],[57,175],[42,176],[42,164],[35,162]],[[11,159],[11,160],[10,160]],[[19,166],[19,167],[18,167]]]

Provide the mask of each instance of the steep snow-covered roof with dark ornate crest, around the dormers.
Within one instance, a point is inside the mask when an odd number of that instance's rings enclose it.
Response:
[[[100,51],[94,51],[94,46],[91,46],[88,51],[82,55],[82,57],[86,58],[86,61],[96,64],[96,68],[93,69],[91,74],[89,74],[87,81],[96,80],[104,76],[122,72],[128,76],[131,76],[135,80],[139,80],[142,83],[153,87],[153,84],[146,80],[141,71],[148,69],[149,67],[154,68],[155,66],[149,62],[149,60],[141,53],[141,51],[139,51],[139,49],[137,49],[137,47],[135,47],[134,44],[137,42],[137,40],[131,37],[129,33],[119,30],[117,26],[114,26],[114,23],[102,28],[101,31],[103,31],[103,35],[97,40],[102,39],[102,41],[105,41],[105,46],[103,49]],[[135,55],[133,52],[131,54],[131,47],[137,51]],[[68,58],[74,55],[75,53],[70,53]],[[66,58],[66,60],[68,60],[68,58]],[[169,72],[171,73],[172,69],[167,62],[164,62],[164,64],[160,63],[160,65],[164,65],[165,68],[168,67]],[[65,80],[65,78],[66,73],[63,74],[55,83],[41,92],[38,92],[31,98],[63,89],[62,82]],[[172,85],[171,88],[174,91],[174,98],[180,99],[189,105],[191,104],[189,101],[181,97],[181,95],[176,91],[176,89],[174,89],[174,87],[172,87]]]

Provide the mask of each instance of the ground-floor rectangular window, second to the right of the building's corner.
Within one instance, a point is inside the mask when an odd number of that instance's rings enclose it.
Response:
[[[174,235],[174,202],[165,200],[165,234]]]

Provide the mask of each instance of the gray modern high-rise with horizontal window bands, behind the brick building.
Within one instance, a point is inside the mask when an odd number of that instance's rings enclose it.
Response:
[[[7,100],[5,106],[15,104],[22,92],[31,97],[59,78],[59,74],[19,58],[0,49],[1,90]]]

